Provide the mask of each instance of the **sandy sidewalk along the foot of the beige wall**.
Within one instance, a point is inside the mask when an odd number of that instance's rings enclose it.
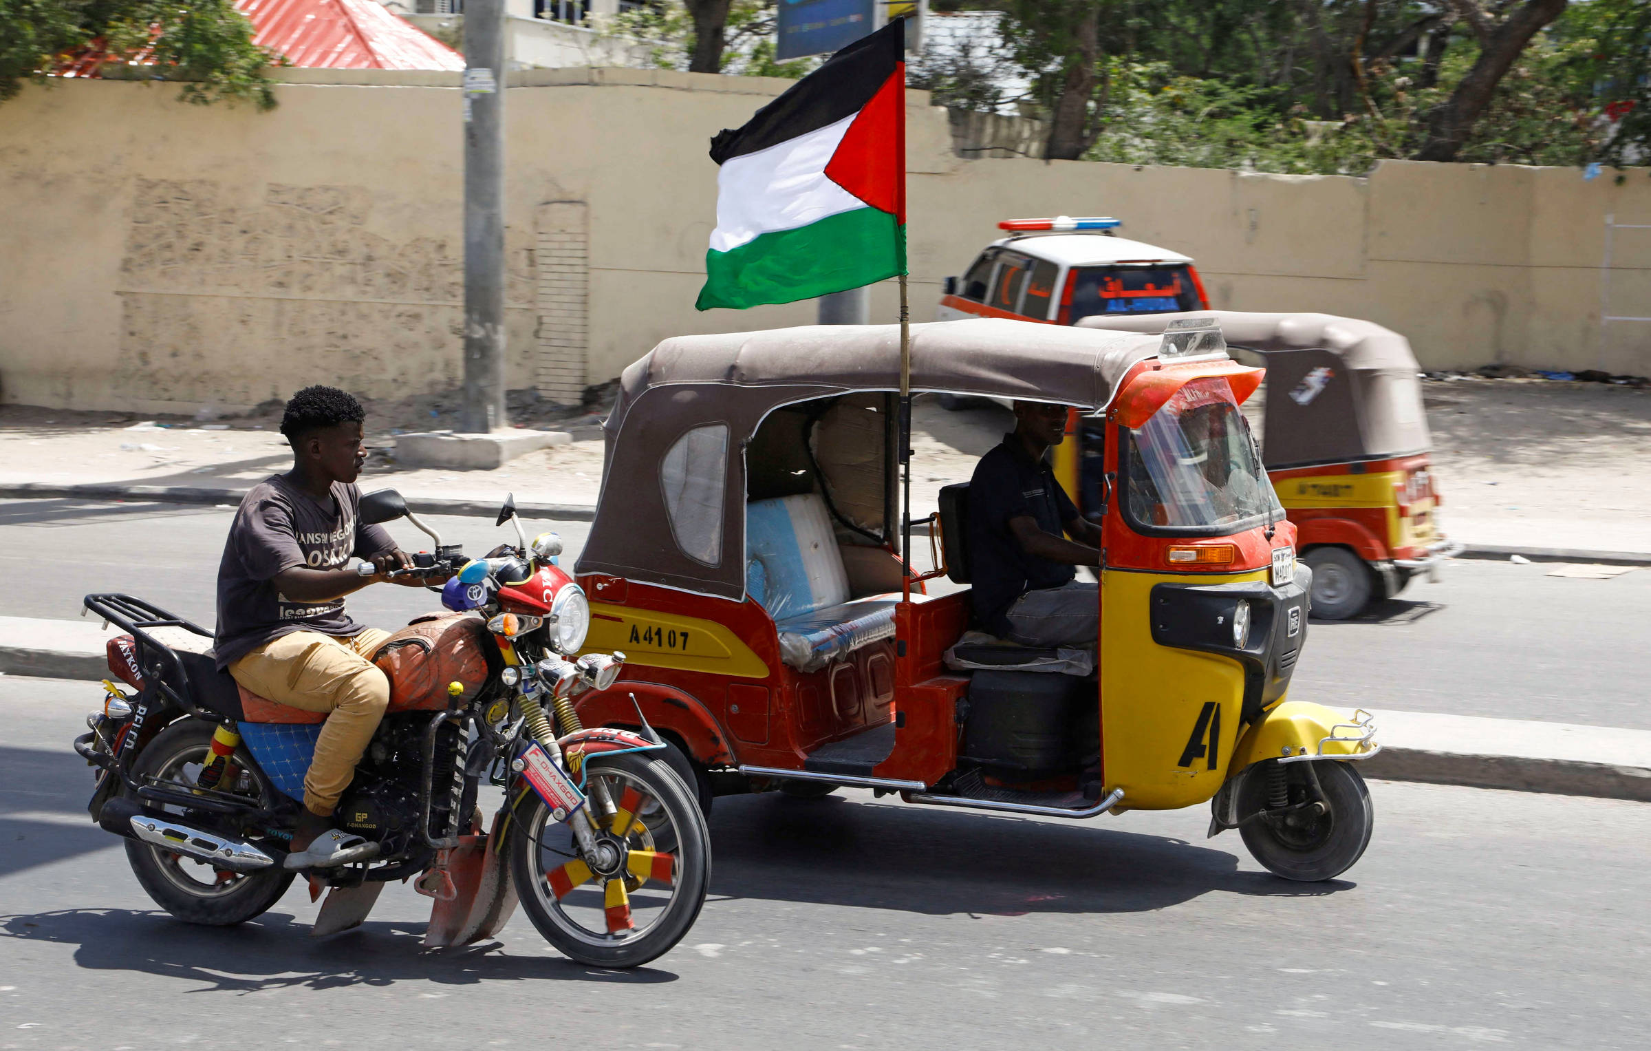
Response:
[[[1547,380],[1428,382],[1423,392],[1440,517],[1453,539],[1497,557],[1540,550],[1651,557],[1651,392]],[[393,421],[398,416],[373,430],[368,416],[373,454],[363,489],[396,487],[414,511],[447,514],[466,514],[464,506],[494,514],[513,492],[523,509],[589,519],[603,473],[599,413],[538,423],[568,431],[573,441],[494,471],[398,469]],[[117,413],[3,407],[0,496],[233,504],[291,463],[272,416],[158,423],[144,428]],[[920,398],[913,509],[931,509],[939,487],[967,478],[1010,426],[997,407],[946,411]]]

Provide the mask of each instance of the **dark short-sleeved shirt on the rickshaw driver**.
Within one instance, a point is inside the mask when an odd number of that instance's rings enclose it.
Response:
[[[1004,615],[1017,598],[1058,588],[1076,573],[1070,565],[1029,555],[1009,529],[1009,519],[1030,516],[1038,529],[1062,535],[1078,509],[1055,481],[1048,463],[1032,459],[1014,435],[981,458],[969,479],[969,578],[974,620],[1004,638]]]

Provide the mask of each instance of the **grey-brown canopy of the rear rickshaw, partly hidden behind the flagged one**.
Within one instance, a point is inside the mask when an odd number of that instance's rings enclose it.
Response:
[[[1177,317],[1213,317],[1228,347],[1263,357],[1261,459],[1270,471],[1408,456],[1433,446],[1410,340],[1379,324],[1334,314],[1194,311],[1096,316],[1078,327],[1157,335]]]

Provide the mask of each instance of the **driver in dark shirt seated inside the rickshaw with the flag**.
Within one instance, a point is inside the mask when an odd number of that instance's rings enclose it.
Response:
[[[1090,646],[1098,630],[1098,588],[1073,580],[1073,567],[1101,564],[1101,527],[1078,514],[1048,466],[1065,436],[1065,405],[1015,402],[1015,430],[969,481],[974,620],[1022,646]]]

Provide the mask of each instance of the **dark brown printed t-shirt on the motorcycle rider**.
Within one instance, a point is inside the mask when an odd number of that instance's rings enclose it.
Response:
[[[360,502],[355,486],[334,483],[332,499],[322,502],[279,474],[241,499],[218,564],[218,668],[292,631],[360,635],[365,625],[350,620],[342,598],[291,602],[272,580],[296,565],[338,568],[350,555],[393,550],[381,526],[362,524]]]

